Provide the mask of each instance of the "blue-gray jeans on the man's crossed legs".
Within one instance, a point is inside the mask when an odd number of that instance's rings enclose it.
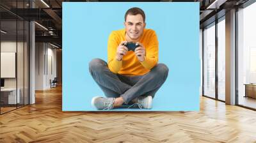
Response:
[[[163,85],[168,76],[168,67],[157,64],[145,75],[125,76],[113,73],[108,68],[108,63],[102,59],[92,59],[89,71],[105,96],[109,98],[122,97],[126,104],[139,96],[152,96]]]

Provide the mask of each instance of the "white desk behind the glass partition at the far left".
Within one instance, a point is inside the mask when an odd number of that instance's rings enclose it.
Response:
[[[18,94],[16,99],[16,88],[4,88],[1,89],[1,102],[4,104],[16,104],[20,103],[20,89],[17,88]]]

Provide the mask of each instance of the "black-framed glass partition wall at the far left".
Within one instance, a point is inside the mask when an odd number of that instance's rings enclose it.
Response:
[[[3,5],[6,3],[0,2]],[[0,114],[29,103],[29,22],[13,12],[17,8],[28,8],[27,3],[28,1],[12,1],[8,3],[12,6],[11,10],[3,5],[0,7],[0,71],[1,81],[3,80]]]

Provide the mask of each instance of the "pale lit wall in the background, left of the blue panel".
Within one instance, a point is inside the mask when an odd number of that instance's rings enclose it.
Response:
[[[56,49],[53,48],[49,43],[36,43],[36,90],[51,88],[50,79],[56,77]]]

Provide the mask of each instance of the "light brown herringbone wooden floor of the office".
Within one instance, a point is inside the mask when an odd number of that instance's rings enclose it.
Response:
[[[256,112],[202,97],[200,112],[62,112],[61,88],[0,116],[0,142],[256,142]]]

